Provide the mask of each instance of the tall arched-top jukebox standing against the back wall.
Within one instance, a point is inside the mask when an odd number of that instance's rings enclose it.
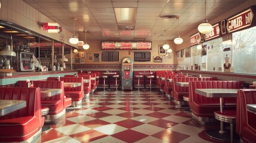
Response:
[[[122,59],[122,90],[124,89],[133,89],[133,61],[129,57],[124,57]]]

